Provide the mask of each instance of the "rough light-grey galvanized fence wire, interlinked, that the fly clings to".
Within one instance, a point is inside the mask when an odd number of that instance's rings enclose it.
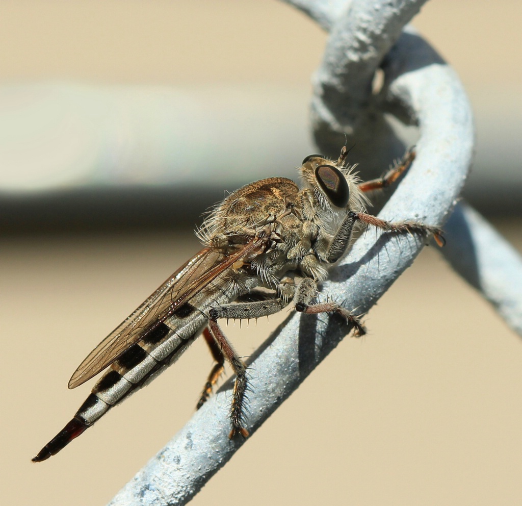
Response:
[[[373,146],[389,150],[399,146],[399,141],[384,121],[384,112],[393,111],[401,120],[418,125],[417,159],[379,216],[442,225],[455,207],[471,163],[473,121],[466,93],[453,70],[422,37],[403,29],[423,2],[288,3],[331,34],[313,100],[318,143],[338,149],[339,135],[344,141],[345,132],[350,137],[357,131],[368,139],[372,136]],[[372,79],[379,65],[385,81],[375,94]],[[520,330],[522,264],[518,255],[465,206],[457,207],[446,230],[448,245],[443,251],[450,263]],[[345,301],[347,307],[367,312],[423,245],[408,235],[362,237],[331,273],[324,291]],[[470,255],[472,262],[463,260]],[[509,276],[510,269],[516,279]],[[246,420],[251,434],[346,332],[335,316],[313,319],[294,314],[266,340],[250,363],[255,370]],[[228,439],[231,387],[232,381],[223,385],[116,495],[111,506],[188,502],[243,444],[241,438]]]

